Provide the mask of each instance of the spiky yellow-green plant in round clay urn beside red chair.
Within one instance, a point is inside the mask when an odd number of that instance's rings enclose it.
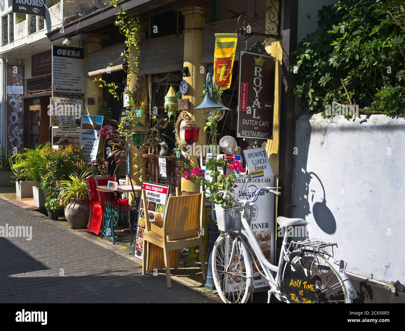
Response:
[[[65,206],[66,221],[72,229],[85,229],[89,221],[90,201],[85,184],[85,178],[89,175],[90,171],[80,175],[73,172],[68,180],[59,182],[59,198]]]

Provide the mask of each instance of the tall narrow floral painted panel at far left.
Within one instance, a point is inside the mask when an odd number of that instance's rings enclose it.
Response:
[[[7,66],[7,151],[23,149],[24,66]]]

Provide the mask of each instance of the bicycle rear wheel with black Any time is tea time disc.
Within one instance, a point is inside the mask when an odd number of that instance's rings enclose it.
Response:
[[[352,303],[345,280],[326,252],[294,252],[283,270],[283,289],[290,303]]]

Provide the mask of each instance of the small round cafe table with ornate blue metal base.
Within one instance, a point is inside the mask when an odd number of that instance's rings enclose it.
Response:
[[[117,185],[116,189],[111,189],[107,187],[107,185],[101,185],[96,187],[96,189],[97,191],[104,193],[104,206],[102,205],[103,218],[100,237],[102,238],[104,236],[107,239],[111,239],[114,245],[115,244],[114,227],[117,226],[119,215],[123,210],[121,202],[117,198],[117,193],[132,192],[132,186]],[[141,192],[141,187],[134,185],[133,191]],[[124,206],[124,208],[125,207],[126,206]]]

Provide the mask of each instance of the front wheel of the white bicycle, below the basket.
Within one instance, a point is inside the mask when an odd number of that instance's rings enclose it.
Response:
[[[218,237],[211,261],[215,287],[222,301],[245,303],[252,288],[252,263],[241,238],[228,234]]]

